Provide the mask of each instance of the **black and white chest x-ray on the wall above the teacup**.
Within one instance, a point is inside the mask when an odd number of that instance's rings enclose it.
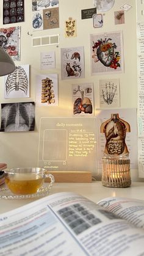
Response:
[[[0,131],[34,131],[35,103],[2,103]]]

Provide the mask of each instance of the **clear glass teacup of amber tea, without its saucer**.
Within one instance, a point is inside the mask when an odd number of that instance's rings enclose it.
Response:
[[[13,194],[35,194],[43,187],[45,178],[50,178],[49,187],[54,183],[54,176],[45,168],[26,167],[5,169],[5,183]]]

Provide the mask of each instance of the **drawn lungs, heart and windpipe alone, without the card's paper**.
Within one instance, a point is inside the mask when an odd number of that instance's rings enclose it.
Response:
[[[85,90],[81,90],[80,86],[77,86],[77,90],[73,90],[73,94],[76,94],[77,92],[81,92],[81,98],[79,97],[74,101],[73,114],[80,114],[81,112],[92,114],[92,102],[90,98],[84,97],[84,93],[92,92],[92,89],[87,88]]]

